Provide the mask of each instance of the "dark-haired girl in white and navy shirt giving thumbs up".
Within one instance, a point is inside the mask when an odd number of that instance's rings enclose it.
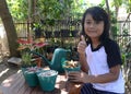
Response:
[[[109,17],[105,10],[93,7],[82,20],[78,45],[82,72],[70,72],[71,82],[82,82],[81,94],[123,94],[119,46],[109,38]]]

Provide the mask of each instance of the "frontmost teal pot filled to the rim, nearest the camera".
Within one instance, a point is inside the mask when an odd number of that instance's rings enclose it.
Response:
[[[57,75],[58,72],[55,70],[44,70],[37,73],[41,90],[47,92],[55,90]]]

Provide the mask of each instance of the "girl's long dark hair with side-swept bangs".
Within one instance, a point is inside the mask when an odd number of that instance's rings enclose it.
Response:
[[[91,14],[93,16],[94,21],[96,21],[96,22],[104,21],[104,32],[100,35],[99,40],[104,42],[104,40],[108,39],[109,38],[109,28],[110,28],[109,16],[106,13],[106,11],[99,7],[88,8],[84,12],[83,19],[82,19],[82,33],[81,34],[84,35],[85,38],[87,39],[87,42],[91,43],[91,38],[85,34],[85,31],[84,31],[85,16],[87,14]]]

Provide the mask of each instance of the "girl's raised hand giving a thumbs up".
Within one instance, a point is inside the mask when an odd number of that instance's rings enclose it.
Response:
[[[83,35],[81,35],[81,42],[78,45],[78,52],[81,55],[85,55],[85,48],[86,48],[86,40]]]

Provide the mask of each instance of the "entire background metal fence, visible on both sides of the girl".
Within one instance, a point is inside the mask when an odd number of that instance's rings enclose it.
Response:
[[[131,43],[130,23],[131,21],[129,21],[129,19],[126,22],[117,22],[118,33],[114,35],[114,39],[117,40],[121,47],[126,47]],[[79,39],[78,35],[82,28],[81,20],[43,20],[41,23],[39,23],[40,30],[38,31],[33,31],[35,28],[33,24],[34,23],[15,23],[17,36],[26,38],[28,34],[32,34],[34,37],[46,37],[47,40],[53,40],[52,43],[58,40],[62,47],[72,40],[73,45],[76,45]]]

